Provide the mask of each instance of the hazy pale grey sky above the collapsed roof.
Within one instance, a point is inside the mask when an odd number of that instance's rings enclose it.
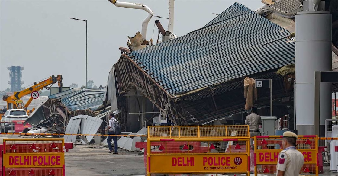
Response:
[[[121,0],[146,4],[155,16],[168,17],[168,0]],[[255,10],[261,0],[176,0],[174,33],[182,36],[198,29],[233,3]],[[88,80],[106,84],[127,35],[141,31],[146,11],[116,7],[108,0],[0,0],[0,90],[10,87],[7,67],[24,67],[22,87],[51,75],[63,75],[64,86],[86,80],[86,23],[88,20]],[[147,40],[157,40],[158,19],[153,17]],[[54,85],[56,86],[56,85]]]

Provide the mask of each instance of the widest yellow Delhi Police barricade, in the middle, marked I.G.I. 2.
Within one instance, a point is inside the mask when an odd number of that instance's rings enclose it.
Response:
[[[147,175],[250,174],[248,126],[148,126]]]

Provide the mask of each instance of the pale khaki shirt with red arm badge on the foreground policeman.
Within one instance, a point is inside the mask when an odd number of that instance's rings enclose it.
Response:
[[[299,175],[300,169],[304,164],[304,156],[296,147],[288,147],[281,151],[278,156],[278,170],[284,171],[285,176]]]

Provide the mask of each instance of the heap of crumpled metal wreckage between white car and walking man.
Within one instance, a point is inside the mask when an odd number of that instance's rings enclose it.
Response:
[[[103,109],[104,89],[70,89],[49,96],[27,118],[24,133],[37,133],[34,137],[61,137],[63,135],[39,135],[39,133],[53,134],[97,134],[104,133],[106,119],[111,112],[110,107]],[[95,128],[94,128],[95,126]],[[80,140],[81,144],[89,144],[93,136],[65,135],[68,142]],[[98,142],[100,143],[101,140]]]

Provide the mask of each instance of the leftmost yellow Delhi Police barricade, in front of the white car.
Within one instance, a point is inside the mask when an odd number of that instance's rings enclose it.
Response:
[[[3,139],[2,175],[65,175],[64,139]]]

